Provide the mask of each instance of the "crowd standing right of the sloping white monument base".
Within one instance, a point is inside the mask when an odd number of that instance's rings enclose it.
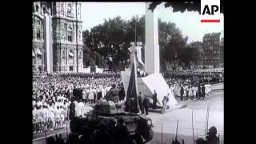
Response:
[[[164,78],[175,97],[183,100],[204,99],[211,92],[211,85],[224,82],[224,70],[163,71]]]

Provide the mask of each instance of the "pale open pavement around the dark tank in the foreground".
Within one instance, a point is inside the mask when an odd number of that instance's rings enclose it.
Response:
[[[210,96],[206,96],[204,100],[190,100],[186,103],[186,107],[178,110],[171,110],[165,114],[150,112],[148,117],[152,118],[154,138],[148,144],[171,144],[175,138],[176,126],[178,121],[178,140],[184,139],[185,144],[193,143],[192,130],[192,110],[194,113],[194,139],[204,138],[206,127],[206,111],[209,111],[209,128],[215,126],[220,135],[220,143],[224,143],[224,84],[219,83],[212,86]],[[178,101],[179,102],[179,101]],[[69,126],[66,129],[54,130],[46,133],[46,137],[62,134],[62,138],[66,139],[70,134]],[[45,133],[34,134],[33,144],[46,144]]]

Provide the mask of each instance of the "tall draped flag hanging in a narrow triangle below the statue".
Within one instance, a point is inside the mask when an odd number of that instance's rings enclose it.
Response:
[[[132,106],[130,107],[130,112],[138,113],[138,100],[137,100],[137,92],[138,92],[138,86],[137,86],[137,66],[136,66],[136,60],[134,57],[134,63],[133,67],[131,69],[130,73],[130,81],[128,85],[128,90],[126,94],[126,101],[130,101],[131,98],[134,98],[134,102],[132,102]]]

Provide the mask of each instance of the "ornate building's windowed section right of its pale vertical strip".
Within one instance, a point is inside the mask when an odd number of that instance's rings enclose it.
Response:
[[[81,3],[52,2],[54,71],[81,72]]]

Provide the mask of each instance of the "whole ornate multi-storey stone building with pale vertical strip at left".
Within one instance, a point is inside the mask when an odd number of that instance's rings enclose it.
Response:
[[[81,3],[34,2],[32,8],[33,70],[81,72]]]

